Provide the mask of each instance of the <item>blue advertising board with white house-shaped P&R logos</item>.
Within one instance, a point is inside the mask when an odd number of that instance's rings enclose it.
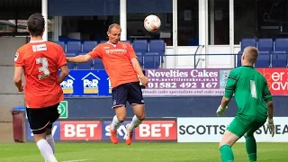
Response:
[[[110,96],[112,87],[105,70],[70,70],[61,83],[65,96]]]

